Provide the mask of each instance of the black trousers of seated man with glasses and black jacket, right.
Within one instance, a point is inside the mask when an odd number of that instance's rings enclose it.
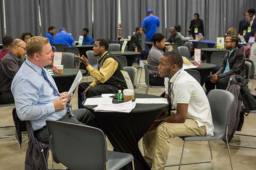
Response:
[[[221,89],[221,90],[226,90],[226,88],[228,87],[228,81],[229,81],[230,76],[225,76],[220,78],[216,83],[211,82],[208,78],[206,79],[205,82],[205,88],[206,88],[206,92],[207,94],[215,89],[215,85],[216,85],[216,89]]]

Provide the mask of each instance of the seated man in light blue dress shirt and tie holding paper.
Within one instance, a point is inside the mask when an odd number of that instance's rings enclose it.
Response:
[[[48,143],[46,120],[58,120],[99,127],[94,115],[86,109],[70,111],[68,92],[59,93],[54,79],[44,66],[52,62],[54,53],[45,37],[32,37],[26,44],[27,59],[12,81],[12,94],[18,117],[30,121],[34,134]]]

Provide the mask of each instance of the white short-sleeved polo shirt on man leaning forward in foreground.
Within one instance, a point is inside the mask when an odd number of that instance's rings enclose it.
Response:
[[[193,119],[198,126],[206,127],[206,135],[213,135],[213,123],[210,104],[202,86],[183,69],[180,69],[169,80],[165,78],[165,93],[168,94],[168,81],[170,81],[172,92],[172,106],[177,109],[177,104],[188,104],[186,118]]]

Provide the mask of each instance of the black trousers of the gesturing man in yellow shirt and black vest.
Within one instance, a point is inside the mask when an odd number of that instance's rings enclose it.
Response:
[[[86,88],[88,88],[88,86],[90,85],[90,83],[80,83],[78,85],[78,108],[83,108],[82,106],[82,102],[84,101],[84,90],[86,90]],[[91,87],[89,90],[87,90],[86,92],[86,98],[91,98],[93,96],[98,96],[104,93],[118,93],[118,90],[122,90],[122,89],[118,89],[118,87],[112,85],[112,84],[98,84],[95,87]]]

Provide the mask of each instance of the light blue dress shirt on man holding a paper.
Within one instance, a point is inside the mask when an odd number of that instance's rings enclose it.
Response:
[[[41,75],[42,69],[45,68],[27,59],[14,76],[11,87],[18,117],[30,121],[34,131],[44,127],[46,120],[58,120],[68,111],[67,108],[55,111],[53,102],[58,96]],[[58,90],[50,73],[47,70],[45,72],[48,80]]]

